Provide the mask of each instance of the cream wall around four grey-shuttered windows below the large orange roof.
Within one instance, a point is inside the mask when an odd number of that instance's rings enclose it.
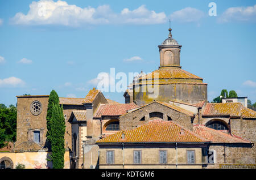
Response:
[[[134,164],[133,152],[134,150],[140,150],[142,153],[142,163]],[[159,150],[167,151],[167,164],[159,164]],[[187,150],[195,151],[195,164],[187,163]],[[106,164],[106,151],[114,151],[114,164]],[[200,147],[195,148],[177,148],[177,168],[202,168],[202,150]],[[124,157],[123,157],[124,155]],[[123,162],[124,158],[124,162]],[[103,147],[100,145],[100,168],[176,168],[176,149],[175,145],[172,147],[158,147],[146,145],[125,145],[122,149],[122,145],[119,147],[116,145],[112,148]],[[124,164],[124,166],[123,166]]]

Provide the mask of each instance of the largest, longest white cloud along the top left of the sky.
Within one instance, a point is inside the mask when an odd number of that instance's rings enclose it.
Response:
[[[145,5],[135,10],[124,8],[115,13],[109,5],[81,8],[65,1],[40,0],[32,2],[27,15],[18,12],[11,23],[20,25],[65,25],[79,27],[86,24],[159,24],[167,21],[164,12],[156,13]]]

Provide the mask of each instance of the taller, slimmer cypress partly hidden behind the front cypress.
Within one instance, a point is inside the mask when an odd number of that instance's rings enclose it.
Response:
[[[51,142],[51,136],[49,135],[49,132],[51,131],[51,126],[50,126],[50,121],[52,117],[52,105],[53,104],[60,104],[59,96],[57,95],[56,91],[52,90],[50,95],[49,95],[49,100],[48,100],[48,108],[47,108],[47,115],[46,115],[46,124],[47,124],[47,140]]]

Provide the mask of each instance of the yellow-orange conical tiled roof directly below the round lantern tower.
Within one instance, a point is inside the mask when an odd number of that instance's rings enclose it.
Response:
[[[203,79],[181,68],[160,68],[139,79],[155,79],[154,76],[156,75],[157,77],[155,72],[158,72],[157,79]]]

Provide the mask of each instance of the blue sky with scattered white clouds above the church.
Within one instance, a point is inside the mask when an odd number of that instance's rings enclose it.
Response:
[[[209,16],[210,2],[217,16]],[[256,102],[255,4],[0,0],[0,104],[52,89],[60,97],[85,97],[112,67],[127,76],[156,70],[169,18],[182,45],[181,66],[208,83],[208,101],[228,89]],[[104,95],[124,103],[123,93]]]

